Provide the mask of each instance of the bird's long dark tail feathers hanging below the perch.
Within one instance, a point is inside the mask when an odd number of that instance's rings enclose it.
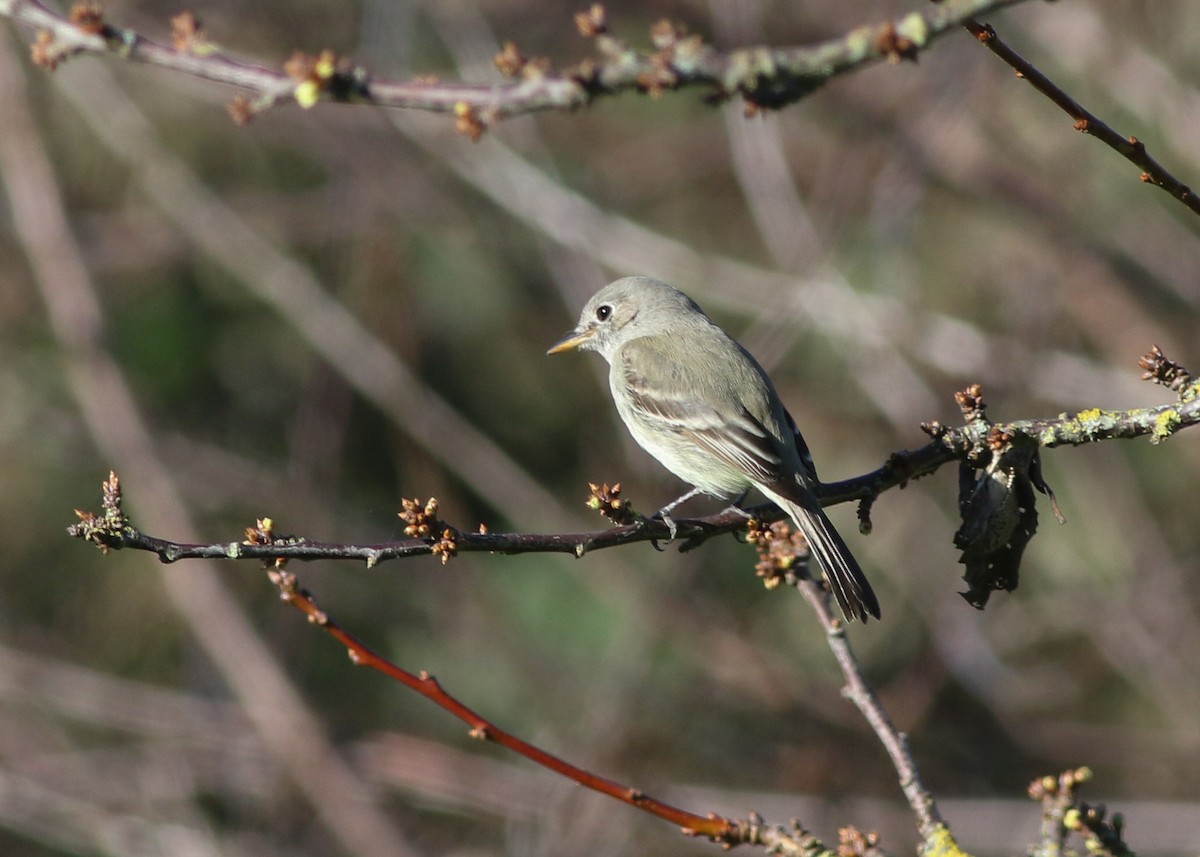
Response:
[[[760,490],[773,499],[800,528],[809,550],[824,569],[829,588],[847,621],[880,618],[880,600],[841,534],[821,509],[820,502],[799,483],[782,483]]]

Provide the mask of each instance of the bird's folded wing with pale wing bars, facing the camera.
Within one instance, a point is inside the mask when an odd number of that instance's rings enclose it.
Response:
[[[630,392],[634,416],[677,432],[718,460],[745,473],[750,481],[773,483],[785,473],[781,442],[738,395],[721,386],[740,380],[736,373],[713,373],[700,360],[682,366],[661,341],[644,337],[619,354],[620,380]],[[636,368],[635,368],[636,366]],[[739,367],[740,368],[740,367]]]

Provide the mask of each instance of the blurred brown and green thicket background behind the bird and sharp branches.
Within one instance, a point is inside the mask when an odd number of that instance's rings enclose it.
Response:
[[[802,44],[912,2],[613,2],[720,47]],[[113,0],[169,40],[181,7]],[[570,5],[205,2],[229,52],[330,48],[380,77],[490,82],[500,42],[590,54]],[[1027,4],[989,20],[1200,185],[1200,6]],[[365,107],[235,126],[233,90],[113,59],[32,67],[0,34],[0,851],[41,855],[701,855],[714,845],[472,741],[278,601],[254,563],[73,541],[115,468],[146,532],[402,537],[402,497],[493,532],[605,522],[680,485],[637,450],[595,355],[545,356],[605,282],[696,298],[767,366],[824,479],[955,422],[1166,402],[1158,343],[1200,368],[1196,218],[966,32],[782,113],[697,92],[505,122]],[[1200,443],[1044,456],[1067,517],[985,612],[964,588],[953,468],[858,535],[883,622],[850,631],[962,845],[1024,853],[1030,780],[1141,853],[1200,843]],[[692,507],[706,511],[703,503]],[[911,815],[794,592],[733,539],[582,561],[296,565],[354,634],[551,753],[697,811],[883,832]]]

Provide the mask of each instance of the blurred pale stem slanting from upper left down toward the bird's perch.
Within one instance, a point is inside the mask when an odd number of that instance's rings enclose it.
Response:
[[[2,2],[2,0],[0,0]],[[162,143],[108,68],[62,86],[103,145],[188,241],[236,277],[428,455],[496,508],[568,526],[559,504],[354,316],[295,253],[250,222]],[[128,473],[126,473],[128,475]],[[516,501],[516,503],[514,503]]]

